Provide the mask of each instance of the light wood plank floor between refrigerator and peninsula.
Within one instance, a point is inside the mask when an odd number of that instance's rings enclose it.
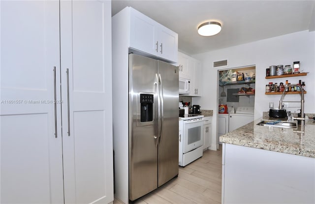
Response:
[[[204,151],[201,158],[180,167],[177,178],[134,204],[221,204],[221,158],[221,150]],[[114,204],[122,203],[115,199]]]

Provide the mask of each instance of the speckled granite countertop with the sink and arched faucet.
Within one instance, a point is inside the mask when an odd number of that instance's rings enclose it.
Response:
[[[306,120],[304,133],[299,133],[301,126],[293,130],[256,125],[261,119],[222,135],[220,142],[315,158],[315,120]]]

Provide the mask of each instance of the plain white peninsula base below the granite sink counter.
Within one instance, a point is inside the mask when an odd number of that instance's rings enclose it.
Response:
[[[315,158],[222,144],[222,204],[314,204]]]

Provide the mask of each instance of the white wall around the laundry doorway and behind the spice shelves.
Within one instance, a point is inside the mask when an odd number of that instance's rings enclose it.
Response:
[[[285,82],[286,79],[291,84],[298,83],[299,79],[305,82],[307,91],[305,113],[315,113],[315,31],[304,30],[192,57],[202,62],[203,87],[203,96],[193,98],[193,103],[199,104],[202,109],[213,110],[214,118],[217,118],[218,113],[219,74],[218,69],[213,68],[213,61],[223,59],[228,59],[228,67],[224,69],[256,66],[255,119],[262,117],[262,112],[269,110],[269,102],[274,102],[275,106],[279,105],[281,95],[265,95],[266,84],[269,82],[279,84]],[[301,70],[310,73],[302,77],[265,79],[266,68],[269,66],[292,65],[293,61],[300,61]],[[286,95],[285,100],[300,100],[300,96],[298,94]],[[216,123],[217,120],[213,119],[213,127],[217,127]],[[212,141],[216,140],[215,135],[212,139]],[[214,149],[213,145],[211,147]]]

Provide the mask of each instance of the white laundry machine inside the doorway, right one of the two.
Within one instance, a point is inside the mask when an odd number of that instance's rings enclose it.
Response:
[[[238,107],[235,114],[229,114],[229,132],[254,120],[254,107]]]

